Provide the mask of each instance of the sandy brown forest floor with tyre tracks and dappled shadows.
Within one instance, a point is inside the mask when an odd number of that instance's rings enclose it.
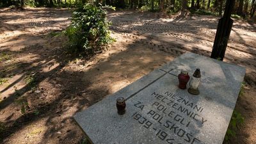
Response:
[[[116,42],[91,58],[68,54],[67,9],[0,9],[0,143],[82,143],[72,116],[190,51],[211,54],[218,17],[111,12]],[[225,61],[246,67],[244,116],[232,143],[256,141],[256,24],[235,20]],[[22,114],[23,113],[23,114]]]

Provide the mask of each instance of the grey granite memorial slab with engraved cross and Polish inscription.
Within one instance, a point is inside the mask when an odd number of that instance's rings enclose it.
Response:
[[[200,68],[200,94],[178,87],[180,70]],[[245,68],[188,52],[79,113],[93,144],[221,144]],[[124,97],[124,115],[116,99]]]

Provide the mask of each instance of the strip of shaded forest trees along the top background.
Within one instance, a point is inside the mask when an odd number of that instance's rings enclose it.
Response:
[[[86,0],[1,0],[0,6],[15,6],[18,8],[23,8],[24,6],[75,7],[87,2]],[[225,6],[224,0],[98,0],[97,2],[103,6],[115,6],[118,9],[129,8],[168,13],[187,9],[194,13],[206,15],[221,15]],[[233,16],[246,18],[253,17],[255,10],[255,0],[236,0],[232,13]]]

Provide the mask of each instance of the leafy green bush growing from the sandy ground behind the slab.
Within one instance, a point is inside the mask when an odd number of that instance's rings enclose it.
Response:
[[[106,10],[100,4],[87,3],[72,13],[72,24],[65,30],[73,52],[86,54],[99,51],[113,41],[110,37]],[[113,7],[109,7],[112,8]]]

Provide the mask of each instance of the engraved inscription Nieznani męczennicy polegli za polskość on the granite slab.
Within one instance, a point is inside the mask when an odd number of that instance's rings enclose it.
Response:
[[[202,143],[189,129],[191,122],[199,122],[204,126],[207,119],[202,116],[204,108],[189,100],[180,97],[172,92],[164,92],[163,95],[153,92],[150,97],[154,97],[150,109],[144,109],[145,104],[137,101],[134,106],[138,111],[133,113],[132,118],[145,129],[152,129],[155,135],[165,143],[182,144]],[[144,109],[144,111],[143,111]],[[179,138],[178,140],[176,140]]]

